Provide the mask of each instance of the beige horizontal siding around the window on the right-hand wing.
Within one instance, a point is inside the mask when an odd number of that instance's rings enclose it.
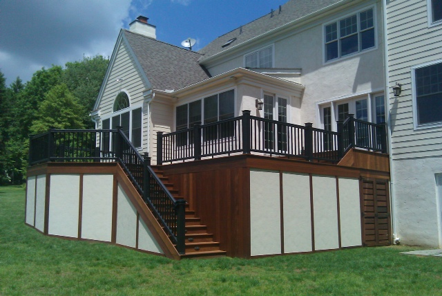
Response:
[[[426,0],[387,3],[390,91],[403,84],[400,97],[390,93],[394,160],[442,154],[442,128],[414,129],[412,101],[412,67],[442,59],[441,30],[428,28]]]

